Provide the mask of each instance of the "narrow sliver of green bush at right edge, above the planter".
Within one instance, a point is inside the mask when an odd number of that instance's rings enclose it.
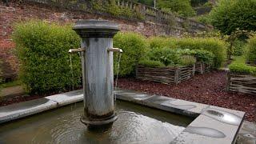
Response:
[[[256,63],[256,36],[249,39],[246,49],[246,60]]]

